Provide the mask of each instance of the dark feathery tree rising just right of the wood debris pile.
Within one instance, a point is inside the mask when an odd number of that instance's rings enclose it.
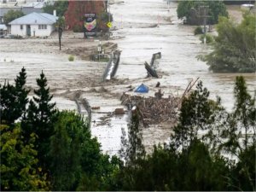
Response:
[[[188,98],[183,98],[177,126],[174,127],[172,145],[187,148],[198,137],[199,130],[207,130],[213,119],[212,104],[208,100],[210,92],[200,81],[196,90]]]

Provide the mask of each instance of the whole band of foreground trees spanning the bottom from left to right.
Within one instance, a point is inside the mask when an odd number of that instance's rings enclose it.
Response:
[[[28,102],[25,84],[23,68],[15,86],[9,84],[16,101]],[[137,109],[127,137],[123,131],[119,158],[102,154],[86,119],[55,110],[43,72],[37,84],[28,108],[5,105],[1,111],[13,113],[0,125],[1,190],[255,191],[255,97],[243,77],[236,78],[230,113],[220,98],[209,100],[199,82],[183,98],[170,143],[154,146],[152,154],[143,147]],[[10,96],[2,95],[1,103]]]

